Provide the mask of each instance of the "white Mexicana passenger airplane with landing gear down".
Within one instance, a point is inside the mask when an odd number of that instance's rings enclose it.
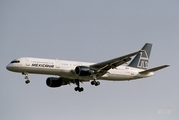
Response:
[[[137,52],[100,63],[22,57],[10,62],[6,68],[25,75],[26,84],[30,83],[29,73],[54,75],[46,79],[47,86],[56,88],[72,83],[77,85],[74,90],[81,92],[84,88],[80,87],[80,83],[83,82],[91,81],[91,85],[99,86],[99,80],[135,80],[153,76],[155,71],[168,67],[162,65],[147,69],[151,49],[152,44],[146,43]],[[129,61],[128,65],[123,65]]]

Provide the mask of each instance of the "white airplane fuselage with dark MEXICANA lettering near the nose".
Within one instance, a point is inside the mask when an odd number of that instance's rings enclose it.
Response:
[[[12,61],[7,65],[7,69],[13,72],[58,75],[69,79],[89,81],[93,79],[92,76],[78,76],[75,73],[75,68],[81,65],[90,66],[92,64],[94,63],[24,57],[16,59],[14,62]],[[153,72],[139,74],[141,71],[143,70],[138,68],[119,66],[109,70],[106,74],[97,79],[121,81],[145,78],[154,75]]]

